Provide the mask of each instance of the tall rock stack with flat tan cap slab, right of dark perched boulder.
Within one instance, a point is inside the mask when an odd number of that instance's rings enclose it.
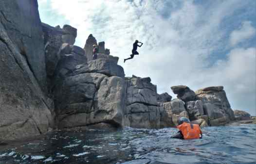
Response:
[[[209,116],[211,125],[222,125],[234,120],[223,86],[212,86],[196,91],[197,98],[203,103],[204,113]]]

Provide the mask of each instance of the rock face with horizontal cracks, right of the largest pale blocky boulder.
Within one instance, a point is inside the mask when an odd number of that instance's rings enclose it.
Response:
[[[160,114],[156,85],[150,78],[133,76],[126,80],[126,111],[124,125],[133,128],[159,128]]]

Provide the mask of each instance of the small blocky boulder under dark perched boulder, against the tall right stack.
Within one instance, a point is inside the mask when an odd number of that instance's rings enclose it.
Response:
[[[201,100],[188,101],[185,103],[190,120],[198,119],[198,116],[204,115],[203,104]]]

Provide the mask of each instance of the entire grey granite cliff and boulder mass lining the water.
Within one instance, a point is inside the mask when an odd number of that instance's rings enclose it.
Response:
[[[149,77],[126,77],[105,42],[90,34],[80,48],[76,36],[70,25],[41,23],[37,0],[0,1],[0,139],[52,129],[175,127],[182,116],[201,127],[255,122],[231,109],[223,86],[172,86],[172,99]]]

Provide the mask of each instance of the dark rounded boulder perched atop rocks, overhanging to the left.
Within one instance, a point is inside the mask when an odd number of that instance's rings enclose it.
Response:
[[[182,99],[184,102],[194,101],[196,99],[195,92],[185,85],[172,86],[171,89],[177,95],[177,98]]]

